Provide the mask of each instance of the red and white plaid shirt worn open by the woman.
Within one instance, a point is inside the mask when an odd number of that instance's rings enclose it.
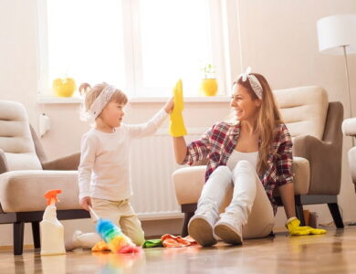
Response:
[[[241,125],[230,125],[226,122],[217,122],[203,136],[187,146],[184,163],[190,165],[208,159],[205,172],[205,182],[220,165],[226,165],[228,158],[233,153]],[[277,134],[267,157],[267,170],[259,176],[267,196],[277,213],[277,204],[273,198],[276,186],[293,183],[292,174],[292,139],[287,126],[282,123],[277,125]]]

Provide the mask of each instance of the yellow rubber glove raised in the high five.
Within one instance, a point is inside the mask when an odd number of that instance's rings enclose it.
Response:
[[[184,126],[182,111],[183,103],[183,83],[179,79],[173,88],[174,107],[170,117],[170,134],[173,137],[180,137],[187,134]]]

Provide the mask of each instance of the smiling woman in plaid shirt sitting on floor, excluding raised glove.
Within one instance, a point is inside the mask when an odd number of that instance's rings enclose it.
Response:
[[[233,85],[231,107],[234,123],[218,122],[188,146],[183,136],[173,137],[177,163],[209,160],[206,183],[188,224],[190,236],[202,246],[214,245],[215,235],[228,244],[241,244],[243,237],[266,237],[277,213],[272,195],[275,187],[291,235],[326,233],[299,227],[291,171],[292,141],[265,77],[247,68]],[[218,209],[230,184],[234,186],[233,198],[219,219]]]

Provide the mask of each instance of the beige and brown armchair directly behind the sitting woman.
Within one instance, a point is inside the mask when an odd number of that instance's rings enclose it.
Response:
[[[340,193],[343,108],[329,102],[319,87],[274,90],[279,110],[293,137],[293,173],[297,216],[304,224],[303,205],[328,204],[337,227],[343,227],[337,204]],[[183,236],[194,215],[204,185],[205,166],[189,166],[173,173],[176,199],[184,213]],[[278,192],[274,194],[282,205]],[[231,201],[232,191],[220,208]]]

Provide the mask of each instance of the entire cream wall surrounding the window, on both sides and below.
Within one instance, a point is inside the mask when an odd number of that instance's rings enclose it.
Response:
[[[242,67],[251,66],[264,74],[273,89],[320,85],[329,92],[330,100],[340,100],[349,113],[348,97],[341,56],[318,52],[316,21],[322,16],[356,13],[356,2],[317,0],[243,0],[240,7],[241,54],[234,60]],[[79,105],[37,104],[37,8],[35,0],[0,0],[0,99],[22,102],[30,122],[37,129],[38,114],[45,111],[52,119],[52,129],[42,139],[48,158],[79,151],[81,134],[88,125],[79,121]],[[235,34],[237,35],[237,34]],[[232,39],[238,40],[238,39]],[[239,47],[235,45],[235,47]],[[350,56],[353,111],[356,111],[356,58]],[[240,66],[234,66],[238,68]],[[239,71],[234,71],[234,74]],[[353,77],[352,77],[353,76]],[[127,122],[145,121],[157,111],[160,103],[132,103]],[[187,127],[209,126],[222,120],[228,112],[227,103],[187,103],[184,116]],[[166,126],[166,125],[165,125]],[[70,132],[70,134],[68,134]],[[344,139],[340,206],[345,221],[356,220],[356,195],[351,184],[346,152],[350,138]],[[310,206],[319,213],[319,221],[330,222],[326,205]],[[283,226],[282,208],[277,226]],[[64,222],[66,232],[74,228],[89,231],[89,220]],[[143,224],[148,235],[179,233],[180,221]],[[0,226],[0,245],[11,245],[12,228]],[[30,227],[25,242],[31,243]],[[8,235],[8,237],[4,237]]]

